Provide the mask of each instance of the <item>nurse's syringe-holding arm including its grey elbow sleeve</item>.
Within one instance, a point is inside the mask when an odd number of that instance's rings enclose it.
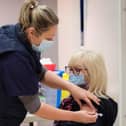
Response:
[[[41,103],[38,95],[19,96],[19,99],[24,104],[28,112],[49,120],[66,120],[89,123],[95,122],[97,118],[96,113],[92,114],[87,111],[66,111]]]

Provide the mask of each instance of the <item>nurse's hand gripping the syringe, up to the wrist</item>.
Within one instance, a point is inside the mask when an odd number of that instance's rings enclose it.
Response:
[[[88,111],[76,111],[77,117],[74,119],[77,122],[82,123],[95,123],[97,120],[97,113]]]

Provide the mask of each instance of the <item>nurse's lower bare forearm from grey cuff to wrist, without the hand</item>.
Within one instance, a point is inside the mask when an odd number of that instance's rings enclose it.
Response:
[[[76,117],[75,112],[57,109],[45,103],[42,103],[39,110],[34,114],[49,120],[75,121],[74,118]]]

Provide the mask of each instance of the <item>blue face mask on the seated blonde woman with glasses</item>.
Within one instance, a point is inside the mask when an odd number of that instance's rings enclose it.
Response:
[[[69,81],[76,84],[76,85],[85,85],[86,81],[84,79],[84,75],[75,75],[75,74],[71,74],[69,76]]]

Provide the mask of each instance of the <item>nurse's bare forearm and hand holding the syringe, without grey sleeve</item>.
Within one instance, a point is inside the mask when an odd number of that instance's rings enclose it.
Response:
[[[72,112],[61,110],[46,103],[42,103],[39,110],[34,114],[49,120],[75,121],[82,123],[96,122],[97,118],[96,113],[91,114],[87,111]]]

